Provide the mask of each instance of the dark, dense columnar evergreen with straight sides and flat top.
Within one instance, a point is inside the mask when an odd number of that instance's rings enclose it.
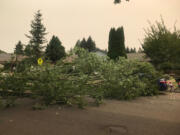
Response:
[[[125,37],[123,27],[119,27],[117,30],[111,28],[108,44],[108,56],[111,59],[117,59],[119,56],[127,58],[124,42]]]

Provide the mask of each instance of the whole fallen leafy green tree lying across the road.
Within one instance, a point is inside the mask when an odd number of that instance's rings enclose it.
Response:
[[[97,57],[82,48],[75,48],[71,55],[74,53],[78,58],[71,63],[60,60],[56,65],[44,64],[6,77],[0,76],[1,91],[11,90],[20,96],[30,90],[31,96],[41,102],[34,109],[50,104],[84,108],[88,104],[87,98],[92,98],[99,105],[104,98],[128,100],[158,93],[158,73],[149,63],[129,61],[123,57],[114,61],[108,57]]]

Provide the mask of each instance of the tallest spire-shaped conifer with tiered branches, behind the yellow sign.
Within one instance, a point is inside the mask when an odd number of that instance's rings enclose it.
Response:
[[[34,20],[31,22],[31,30],[29,31],[30,35],[26,35],[30,41],[32,56],[38,58],[42,55],[42,45],[46,42],[45,35],[46,28],[42,24],[42,14],[40,10],[34,16]]]

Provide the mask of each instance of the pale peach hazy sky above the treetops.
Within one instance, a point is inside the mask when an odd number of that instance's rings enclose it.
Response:
[[[66,50],[78,39],[89,35],[97,47],[108,47],[111,27],[123,26],[125,45],[139,48],[143,28],[150,20],[160,20],[173,29],[180,29],[180,0],[130,0],[114,5],[113,0],[0,0],[0,49],[13,52],[19,40],[28,43],[34,13],[41,10],[47,28],[47,40],[56,35]]]

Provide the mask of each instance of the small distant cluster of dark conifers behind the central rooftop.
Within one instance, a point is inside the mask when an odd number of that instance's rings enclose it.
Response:
[[[93,52],[96,50],[96,43],[92,40],[91,36],[89,36],[87,40],[85,38],[83,38],[82,41],[78,40],[75,46],[84,48],[89,52]]]

